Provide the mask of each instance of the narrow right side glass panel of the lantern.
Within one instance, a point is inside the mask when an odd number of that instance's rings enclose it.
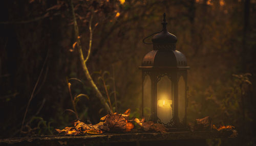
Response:
[[[178,85],[178,116],[180,119],[180,122],[183,121],[185,117],[185,81],[184,78],[181,76],[179,79],[179,85]]]

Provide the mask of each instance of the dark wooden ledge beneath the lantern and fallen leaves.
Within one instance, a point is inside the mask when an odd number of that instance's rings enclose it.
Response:
[[[83,136],[39,136],[0,139],[0,145],[97,145],[116,142],[166,141],[186,139],[230,138],[236,131],[196,131],[168,133],[103,133]],[[122,145],[122,144],[121,144]]]

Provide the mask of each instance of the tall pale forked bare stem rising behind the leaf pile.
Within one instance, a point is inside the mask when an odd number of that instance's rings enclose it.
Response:
[[[78,26],[77,26],[77,21],[76,21],[76,16],[75,16],[75,11],[74,11],[74,6],[73,6],[73,3],[72,3],[72,0],[70,0],[70,5],[71,5],[72,15],[73,15],[73,19],[74,19],[74,29],[75,29],[75,37],[77,39],[78,53],[79,53],[79,58],[80,58],[80,61],[81,61],[83,72],[86,75],[86,78],[89,81],[90,85],[92,86],[93,90],[95,91],[97,98],[101,101],[101,103],[104,106],[104,108],[106,109],[106,111],[112,113],[112,110],[110,109],[110,106],[108,105],[108,103],[106,103],[103,95],[101,94],[101,92],[99,91],[98,87],[94,83],[94,81],[93,81],[93,79],[92,79],[92,77],[90,75],[90,72],[89,72],[89,70],[87,68],[87,65],[86,65],[86,62],[89,59],[91,48],[92,48],[92,34],[93,34],[93,30],[90,31],[90,42],[89,42],[88,56],[87,56],[87,59],[84,60],[83,52],[82,52],[82,46],[81,46],[81,41],[80,41],[80,38],[78,38],[79,30],[78,30]],[[89,22],[89,25],[90,25],[89,29],[91,28],[92,18],[90,19],[90,21],[91,22]]]

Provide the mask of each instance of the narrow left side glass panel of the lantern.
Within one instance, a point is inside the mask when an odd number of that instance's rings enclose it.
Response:
[[[145,120],[150,120],[151,116],[151,79],[146,76],[143,83],[143,114]]]

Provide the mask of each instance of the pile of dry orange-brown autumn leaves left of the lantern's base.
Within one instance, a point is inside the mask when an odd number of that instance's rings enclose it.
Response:
[[[127,132],[134,128],[137,124],[144,131],[155,131],[166,133],[167,129],[161,124],[155,124],[152,121],[145,121],[144,118],[129,119],[131,109],[127,109],[123,114],[113,113],[100,118],[100,123],[96,125],[84,124],[82,121],[75,121],[74,127],[66,127],[65,129],[56,129],[58,133],[65,135],[83,135],[83,134],[100,134],[102,132]]]

